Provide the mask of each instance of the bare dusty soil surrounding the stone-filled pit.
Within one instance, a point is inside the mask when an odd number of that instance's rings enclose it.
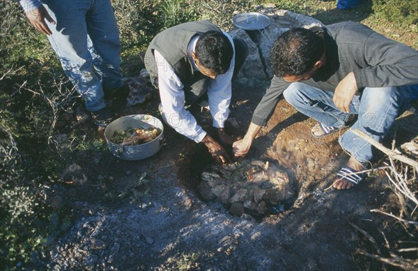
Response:
[[[239,127],[231,129],[234,137],[245,134],[264,89],[235,86],[231,117]],[[157,102],[155,95],[145,105],[118,113],[160,117]],[[348,155],[339,147],[338,134],[311,137],[312,125],[314,121],[281,100],[256,139],[248,157],[277,161],[298,183],[294,205],[260,221],[233,217],[219,203],[201,201],[194,187],[210,157],[201,144],[170,127],[164,126],[162,150],[146,160],[118,160],[108,151],[94,160],[79,157],[74,162],[88,181],[59,190],[60,208],[71,210],[73,223],[52,243],[49,268],[381,270],[380,261],[358,250],[388,257],[385,238],[390,246],[410,240],[395,219],[370,212],[380,209],[397,215],[397,197],[380,172],[353,192],[324,192]],[[409,139],[403,125],[396,134],[398,144]],[[149,183],[139,187],[143,173]]]

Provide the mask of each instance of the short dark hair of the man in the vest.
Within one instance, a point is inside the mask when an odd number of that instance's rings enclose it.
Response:
[[[229,70],[233,48],[229,38],[217,31],[203,33],[196,42],[195,53],[201,64],[217,75]]]

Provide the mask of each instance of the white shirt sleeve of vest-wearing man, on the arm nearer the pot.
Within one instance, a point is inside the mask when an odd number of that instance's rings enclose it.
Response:
[[[199,143],[206,136],[206,132],[197,124],[196,118],[185,109],[183,83],[160,52],[154,50],[154,57],[164,117],[178,133]]]

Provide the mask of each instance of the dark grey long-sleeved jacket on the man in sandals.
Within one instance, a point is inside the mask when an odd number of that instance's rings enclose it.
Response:
[[[418,84],[418,52],[357,22],[323,27],[327,64],[303,83],[334,91],[341,79],[354,72],[357,86],[403,86]],[[251,122],[265,126],[290,84],[273,77],[270,87],[254,111]]]

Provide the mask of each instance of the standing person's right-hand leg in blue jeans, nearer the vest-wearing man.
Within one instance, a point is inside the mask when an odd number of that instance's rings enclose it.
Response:
[[[94,0],[86,14],[95,68],[104,92],[123,86],[121,75],[121,42],[114,10],[109,0]]]

